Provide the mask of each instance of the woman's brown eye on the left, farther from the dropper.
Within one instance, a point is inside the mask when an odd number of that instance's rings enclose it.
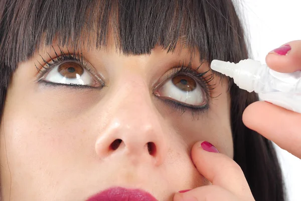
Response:
[[[99,87],[102,83],[77,61],[64,61],[46,72],[41,80],[65,85],[87,85]]]

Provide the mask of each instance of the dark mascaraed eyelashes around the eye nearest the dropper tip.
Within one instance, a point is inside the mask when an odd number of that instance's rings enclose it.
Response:
[[[202,65],[202,64],[201,64]],[[180,102],[177,102],[176,100],[172,99],[161,99],[163,100],[166,104],[170,105],[175,109],[175,112],[180,112],[181,115],[183,115],[185,112],[190,111],[192,119],[199,119],[200,115],[202,113],[205,113],[209,109],[209,97],[211,96],[211,91],[214,90],[214,85],[210,84],[210,82],[214,79],[214,74],[208,74],[211,70],[208,70],[203,73],[199,73],[198,69],[201,67],[201,65],[197,69],[193,69],[191,63],[188,65],[185,65],[184,63],[181,66],[175,67],[173,69],[173,72],[164,80],[169,80],[172,77],[178,76],[178,75],[188,75],[192,78],[195,79],[195,81],[200,84],[201,88],[204,90],[204,95],[206,96],[206,99],[208,100],[207,104],[202,107],[197,107],[197,106],[192,106],[192,105],[187,105],[183,104]],[[164,82],[165,83],[165,82]],[[161,86],[162,84],[160,84]],[[158,97],[158,96],[156,96]],[[159,97],[158,97],[159,98]]]

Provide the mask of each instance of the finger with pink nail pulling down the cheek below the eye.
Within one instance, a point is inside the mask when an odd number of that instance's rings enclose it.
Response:
[[[191,155],[198,171],[213,185],[221,186],[235,195],[251,195],[239,165],[226,155],[214,152],[218,151],[206,141],[193,146]]]

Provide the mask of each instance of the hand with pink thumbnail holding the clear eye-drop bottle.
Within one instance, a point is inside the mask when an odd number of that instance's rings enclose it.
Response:
[[[289,46],[285,46],[284,50],[276,49],[270,52],[266,56],[266,64],[278,72],[301,70],[301,40],[285,45],[289,45],[291,50]],[[285,54],[287,50],[289,51]],[[248,128],[301,158],[301,114],[267,102],[256,102],[245,109],[242,120]]]

